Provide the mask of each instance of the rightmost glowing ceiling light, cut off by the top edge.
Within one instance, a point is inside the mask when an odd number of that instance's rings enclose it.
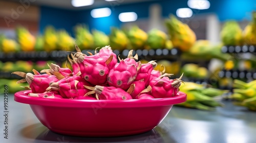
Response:
[[[187,5],[191,9],[209,9],[210,2],[207,0],[188,0]]]

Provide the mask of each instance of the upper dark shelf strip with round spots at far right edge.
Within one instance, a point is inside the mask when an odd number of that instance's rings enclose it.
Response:
[[[223,53],[254,53],[256,52],[255,45],[243,45],[243,46],[223,46]]]

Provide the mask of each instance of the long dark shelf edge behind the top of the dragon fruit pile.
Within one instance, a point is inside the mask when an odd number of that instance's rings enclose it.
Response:
[[[94,54],[95,50],[83,50],[82,53],[88,54],[91,52]],[[120,55],[120,58],[127,57],[129,50],[124,50],[122,52],[118,50],[113,51],[116,55]],[[157,49],[157,50],[134,50],[134,55],[138,54],[139,59],[167,59],[167,60],[176,60],[181,52],[178,49]],[[42,61],[42,60],[54,60],[63,62],[67,59],[67,56],[70,52],[67,51],[52,51],[50,53],[45,51],[38,51],[38,52],[18,52],[18,53],[0,53],[0,60],[2,62],[6,61],[17,61],[17,60],[24,60],[24,61]]]

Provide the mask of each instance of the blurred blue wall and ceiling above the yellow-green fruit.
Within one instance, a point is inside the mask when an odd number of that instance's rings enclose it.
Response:
[[[44,29],[51,25],[56,29],[65,29],[74,36],[74,27],[77,23],[85,23],[90,29],[97,29],[106,34],[110,34],[110,27],[129,27],[134,24],[144,31],[149,31],[152,28],[166,31],[163,20],[169,14],[175,14],[195,31],[198,39],[209,39],[212,42],[218,42],[220,40],[219,32],[224,21],[237,20],[241,28],[244,28],[251,20],[251,11],[255,10],[256,7],[253,0],[244,2],[239,0],[199,1],[195,4],[189,3],[187,0],[178,2],[167,0],[95,0],[81,2],[84,2],[84,4],[79,6],[79,1],[77,1],[77,4],[75,4],[76,1],[73,1],[73,4],[71,0],[1,0],[0,32],[10,38],[15,38],[14,28],[17,25],[25,26],[33,34],[42,34]],[[98,12],[100,18],[94,18],[92,10],[98,8],[108,8],[109,14],[103,9]],[[179,11],[181,8],[188,9]],[[118,16],[123,12],[134,12],[136,19],[122,22]],[[180,12],[179,15],[177,12]]]

